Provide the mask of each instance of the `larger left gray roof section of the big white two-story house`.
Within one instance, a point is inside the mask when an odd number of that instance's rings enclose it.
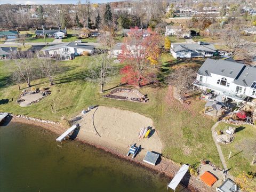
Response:
[[[198,74],[203,76],[217,74],[235,79],[244,67],[244,64],[234,61],[206,59],[199,68]]]

